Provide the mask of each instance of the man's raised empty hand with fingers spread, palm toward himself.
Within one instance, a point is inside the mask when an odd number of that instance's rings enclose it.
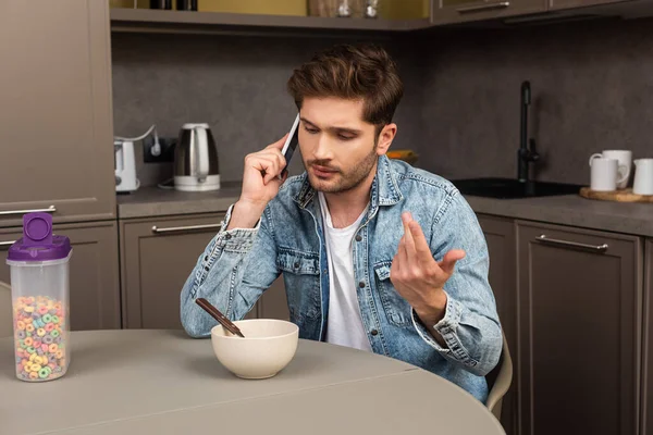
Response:
[[[431,335],[444,346],[444,340],[432,326],[444,318],[446,294],[444,284],[453,275],[456,261],[465,258],[465,251],[454,249],[442,261],[433,259],[431,248],[419,223],[410,213],[403,213],[404,237],[392,261],[390,279],[399,295],[410,303]]]

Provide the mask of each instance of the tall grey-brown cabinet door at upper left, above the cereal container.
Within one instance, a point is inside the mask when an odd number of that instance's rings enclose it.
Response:
[[[106,1],[3,0],[0,227],[115,217]]]

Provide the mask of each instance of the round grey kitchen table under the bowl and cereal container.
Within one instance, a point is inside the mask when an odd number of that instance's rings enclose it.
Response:
[[[0,339],[0,434],[504,434],[472,396],[391,358],[299,340],[276,376],[246,381],[181,331],[71,334],[65,376],[19,381]]]

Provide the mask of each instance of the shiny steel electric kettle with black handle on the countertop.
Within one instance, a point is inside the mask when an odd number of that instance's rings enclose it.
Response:
[[[184,124],[174,149],[174,188],[183,191],[220,189],[218,149],[208,124]]]

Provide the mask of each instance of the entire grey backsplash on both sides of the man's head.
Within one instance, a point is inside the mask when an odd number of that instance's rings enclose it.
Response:
[[[137,135],[156,122],[162,136],[176,136],[185,122],[208,122],[221,175],[237,181],[245,154],[289,128],[292,70],[337,41],[115,34],[115,134]],[[537,178],[586,184],[588,158],[603,149],[653,157],[652,20],[381,42],[398,57],[406,85],[393,147],[417,149],[418,166],[449,178],[516,176],[525,79],[532,86],[529,130],[542,156]],[[291,172],[299,171],[296,159]],[[170,175],[170,164],[139,163],[144,185]]]

